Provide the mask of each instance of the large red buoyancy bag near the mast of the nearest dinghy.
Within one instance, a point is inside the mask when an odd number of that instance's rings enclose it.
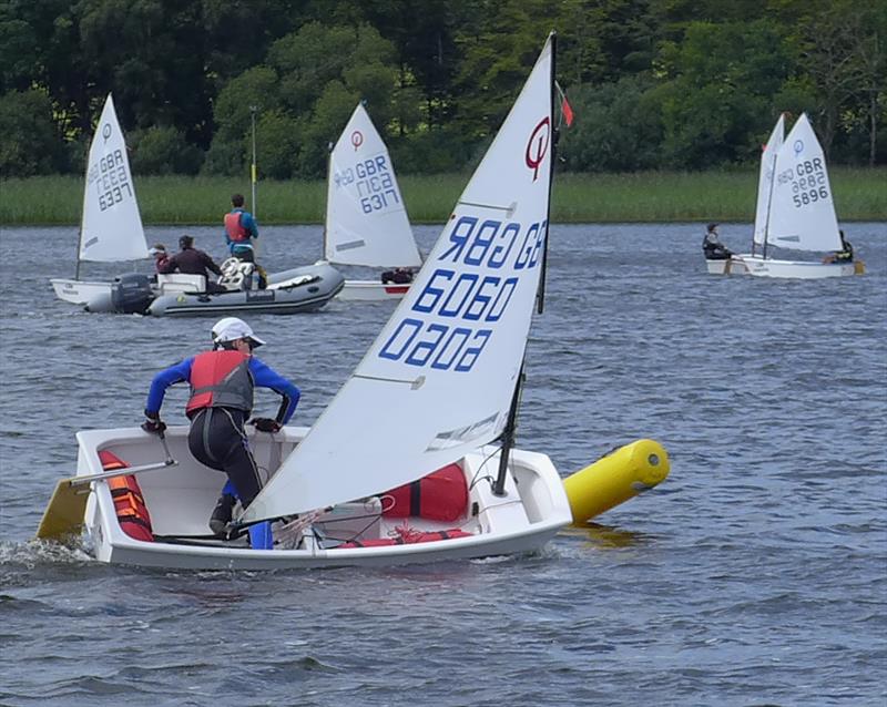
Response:
[[[465,515],[468,506],[468,484],[459,464],[447,464],[412,483],[383,494],[394,503],[383,511],[386,518],[410,515],[429,521],[455,521]],[[383,500],[383,505],[387,503]]]

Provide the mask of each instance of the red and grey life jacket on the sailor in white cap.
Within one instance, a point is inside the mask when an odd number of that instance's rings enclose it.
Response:
[[[191,398],[185,406],[188,418],[204,408],[253,410],[253,375],[249,356],[239,351],[205,351],[191,365]]]

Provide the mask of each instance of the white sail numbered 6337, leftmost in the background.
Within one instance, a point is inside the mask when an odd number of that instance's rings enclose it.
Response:
[[[109,93],[86,163],[79,258],[110,263],[146,257],[126,144]]]

